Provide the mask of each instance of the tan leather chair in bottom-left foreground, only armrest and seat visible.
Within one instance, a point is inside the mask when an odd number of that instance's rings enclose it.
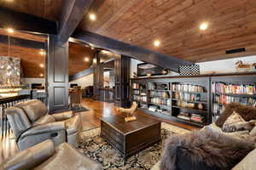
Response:
[[[20,151],[0,164],[0,170],[102,170],[102,166],[82,155],[67,143],[55,147],[45,140],[31,148]]]

